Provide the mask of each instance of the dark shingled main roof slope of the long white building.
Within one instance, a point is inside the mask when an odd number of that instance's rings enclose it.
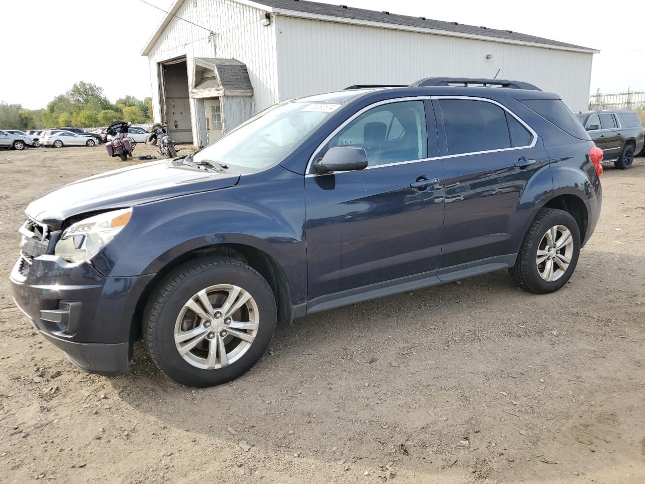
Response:
[[[535,37],[535,35],[521,34],[519,32],[512,32],[511,30],[497,30],[494,28],[486,28],[485,26],[465,25],[457,22],[443,22],[439,20],[426,19],[424,17],[397,15],[389,12],[376,12],[375,10],[353,8],[346,5],[330,5],[328,3],[310,2],[306,0],[257,0],[257,3],[260,5],[270,6],[273,10],[278,11],[281,9],[292,10],[294,12],[306,12],[307,14],[324,15],[327,17],[339,17],[341,19],[428,28],[455,34],[482,35],[484,37],[492,37],[493,39],[520,41],[597,52],[595,49],[588,47],[544,39],[542,37]]]

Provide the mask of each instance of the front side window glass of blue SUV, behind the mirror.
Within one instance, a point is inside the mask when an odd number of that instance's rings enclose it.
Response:
[[[325,151],[332,146],[361,146],[367,153],[368,166],[427,158],[423,101],[402,101],[372,108],[342,128]]]

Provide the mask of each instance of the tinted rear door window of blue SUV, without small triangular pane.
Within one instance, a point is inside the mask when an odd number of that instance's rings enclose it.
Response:
[[[457,155],[511,147],[506,112],[486,101],[440,99],[448,154]]]

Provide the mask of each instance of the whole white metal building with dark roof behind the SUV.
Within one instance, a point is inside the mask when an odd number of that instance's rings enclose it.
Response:
[[[356,84],[517,79],[588,104],[599,52],[511,30],[304,0],[176,0],[143,48],[154,120],[203,146],[268,106]]]

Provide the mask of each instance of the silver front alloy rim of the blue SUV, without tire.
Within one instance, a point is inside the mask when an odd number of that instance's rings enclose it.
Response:
[[[226,367],[251,347],[259,310],[249,292],[235,285],[207,287],[192,296],[175,322],[175,345],[190,365],[204,370]]]

